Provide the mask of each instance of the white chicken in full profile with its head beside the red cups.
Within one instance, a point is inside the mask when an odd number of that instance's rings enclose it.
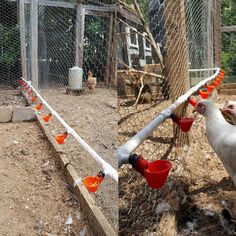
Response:
[[[236,186],[236,126],[229,124],[209,100],[198,102],[195,111],[206,118],[206,135]]]

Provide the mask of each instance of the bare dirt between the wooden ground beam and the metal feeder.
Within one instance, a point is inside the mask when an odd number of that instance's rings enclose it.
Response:
[[[67,95],[65,90],[43,90],[48,103],[65,121],[108,163],[117,168],[115,158],[117,137],[117,99],[116,91],[96,88],[93,94],[80,96]],[[42,114],[47,114],[42,110]],[[64,128],[52,119],[48,124],[52,133],[62,133]],[[80,177],[96,175],[101,169],[97,162],[83,150],[73,137],[65,144],[67,158],[71,161]],[[99,191],[91,194],[108,221],[118,227],[118,190],[117,183],[110,177],[103,180]]]

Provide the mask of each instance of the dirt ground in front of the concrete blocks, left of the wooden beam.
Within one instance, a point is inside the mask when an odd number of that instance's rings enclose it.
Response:
[[[0,235],[90,235],[35,123],[0,124]]]

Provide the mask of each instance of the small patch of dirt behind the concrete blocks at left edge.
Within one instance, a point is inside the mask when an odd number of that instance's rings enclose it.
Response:
[[[26,100],[19,90],[1,90],[0,106],[26,106]]]

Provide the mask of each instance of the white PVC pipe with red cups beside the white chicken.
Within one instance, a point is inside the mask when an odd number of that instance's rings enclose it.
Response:
[[[129,141],[127,141],[124,145],[118,148],[117,150],[117,158],[118,158],[118,168],[120,168],[123,164],[129,163],[130,154],[145,140],[147,139],[153,131],[163,123],[167,118],[171,116],[171,114],[175,111],[175,109],[188,100],[188,98],[196,91],[199,90],[203,85],[205,85],[208,81],[214,79],[218,73],[220,72],[219,68],[215,68],[216,72],[206,78],[205,80],[199,82],[197,85],[192,87],[187,93],[180,96],[173,104],[171,104],[166,110],[162,111],[153,121],[151,121],[146,127],[140,130],[135,136],[133,136]]]

